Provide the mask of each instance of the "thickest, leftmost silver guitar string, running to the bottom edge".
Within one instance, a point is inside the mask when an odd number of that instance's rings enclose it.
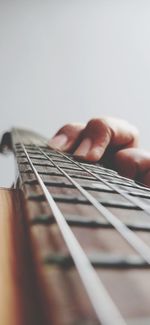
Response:
[[[70,254],[74,260],[74,263],[82,280],[82,283],[84,284],[88,297],[96,312],[97,318],[99,319],[102,325],[125,325],[126,323],[122,318],[119,310],[117,309],[107,290],[103,286],[100,278],[92,267],[85,252],[83,251],[82,247],[80,246],[79,242],[71,231],[71,228],[68,226],[63,214],[61,213],[57,204],[53,200],[52,195],[48,191],[42,178],[40,177],[34,165],[32,164],[32,161],[23,144],[22,148],[24,149],[28,162],[44,192],[47,202],[57,221],[61,234],[67,244],[67,247],[70,251]]]

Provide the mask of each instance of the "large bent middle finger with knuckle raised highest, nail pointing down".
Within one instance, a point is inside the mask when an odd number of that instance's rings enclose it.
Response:
[[[119,150],[138,145],[137,129],[114,118],[92,119],[82,131],[81,138],[74,154],[88,161],[98,161],[108,147]]]

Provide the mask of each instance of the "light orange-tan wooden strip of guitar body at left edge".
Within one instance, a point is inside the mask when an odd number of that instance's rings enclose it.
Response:
[[[14,220],[16,191],[0,189],[0,324],[20,324]],[[8,312],[9,310],[9,312]]]

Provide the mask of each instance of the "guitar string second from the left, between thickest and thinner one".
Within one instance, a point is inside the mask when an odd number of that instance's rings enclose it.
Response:
[[[37,146],[36,146],[37,147]],[[38,147],[37,147],[38,148]],[[97,201],[89,192],[73,180],[61,167],[59,167],[53,160],[39,147],[39,151],[43,153],[47,159],[63,174],[66,178],[79,190],[80,193],[95,207],[108,222],[119,232],[119,234],[136,250],[145,261],[150,264],[150,248],[145,244],[132,230],[121,222],[111,211],[104,207]]]

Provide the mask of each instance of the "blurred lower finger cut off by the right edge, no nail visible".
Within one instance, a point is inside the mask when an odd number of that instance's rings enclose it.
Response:
[[[119,174],[150,187],[150,152],[137,148],[124,149],[118,151],[113,160]]]

